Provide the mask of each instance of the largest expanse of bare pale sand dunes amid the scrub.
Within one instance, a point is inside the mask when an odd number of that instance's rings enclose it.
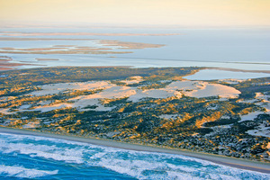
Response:
[[[127,84],[142,81],[141,76],[133,76],[125,81]],[[68,103],[58,103],[49,105],[49,102],[41,102],[35,109],[27,110],[27,106],[22,106],[21,111],[41,111],[49,112],[62,108],[76,108],[79,111],[112,111],[114,107],[105,107],[102,100],[118,99],[128,97],[129,101],[138,102],[143,98],[168,98],[176,96],[181,98],[182,94],[193,97],[207,97],[220,95],[222,98],[237,97],[238,90],[218,84],[209,84],[202,81],[175,81],[165,88],[141,90],[137,87],[113,85],[108,81],[89,81],[85,83],[60,83],[53,85],[41,85],[42,90],[32,92],[32,95],[58,94],[67,90],[94,90],[103,89],[96,94],[81,95],[67,100]],[[93,106],[93,108],[92,108]],[[94,107],[97,106],[97,107]],[[3,110],[4,111],[4,110]]]

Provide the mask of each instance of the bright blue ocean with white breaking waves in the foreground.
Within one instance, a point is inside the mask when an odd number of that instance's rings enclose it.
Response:
[[[0,133],[0,179],[270,179],[180,155]]]

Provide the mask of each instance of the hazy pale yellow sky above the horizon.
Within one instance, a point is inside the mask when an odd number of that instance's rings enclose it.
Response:
[[[270,0],[0,0],[0,21],[269,26]]]

